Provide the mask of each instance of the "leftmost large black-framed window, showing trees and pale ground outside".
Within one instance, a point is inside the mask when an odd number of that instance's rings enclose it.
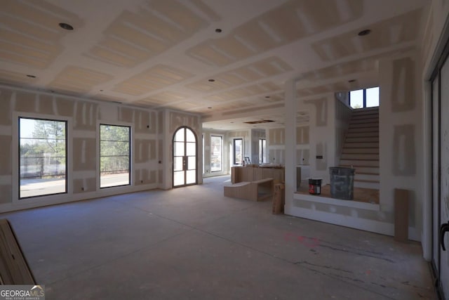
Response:
[[[20,117],[19,198],[67,193],[67,122]]]

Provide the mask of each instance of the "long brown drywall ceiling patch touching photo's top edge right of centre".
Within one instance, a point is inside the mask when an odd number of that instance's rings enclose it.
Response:
[[[359,0],[290,0],[248,20],[226,37],[208,39],[189,48],[187,55],[203,63],[225,66],[356,20],[362,13],[363,1]],[[212,51],[214,48],[220,48],[222,53]]]

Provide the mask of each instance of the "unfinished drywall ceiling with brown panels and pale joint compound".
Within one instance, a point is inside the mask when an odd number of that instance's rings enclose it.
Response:
[[[0,83],[199,113],[207,128],[281,126],[287,79],[307,98],[377,85],[377,60],[416,46],[428,4],[2,0]],[[275,122],[243,123],[260,119]]]

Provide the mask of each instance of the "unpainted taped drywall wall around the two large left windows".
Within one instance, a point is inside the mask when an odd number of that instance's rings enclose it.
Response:
[[[0,86],[0,211],[156,188],[158,183],[155,111],[83,98]],[[18,200],[18,117],[67,121],[67,194]],[[100,124],[131,127],[131,185],[99,188]]]

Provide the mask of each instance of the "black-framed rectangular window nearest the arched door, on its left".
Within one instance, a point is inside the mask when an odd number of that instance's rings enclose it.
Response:
[[[100,124],[100,188],[130,184],[129,126]]]

